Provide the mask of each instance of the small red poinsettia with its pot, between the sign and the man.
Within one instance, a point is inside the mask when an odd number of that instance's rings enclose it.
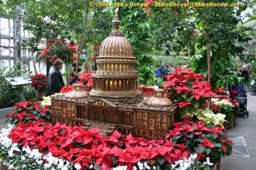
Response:
[[[43,74],[36,74],[32,79],[31,87],[36,90],[36,98],[38,100],[43,100],[42,97],[45,96],[45,91],[47,89],[48,78]]]

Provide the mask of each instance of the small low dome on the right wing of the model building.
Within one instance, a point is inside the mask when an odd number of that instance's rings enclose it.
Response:
[[[158,107],[170,107],[173,105],[172,101],[164,97],[164,90],[163,89],[156,89],[154,91],[154,96],[147,98],[144,101],[144,105],[148,106],[158,106]]]

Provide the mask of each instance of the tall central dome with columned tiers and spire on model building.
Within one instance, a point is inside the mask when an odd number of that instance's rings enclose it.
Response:
[[[107,99],[115,104],[135,104],[143,100],[138,90],[139,72],[134,70],[136,57],[130,41],[119,30],[118,7],[113,31],[105,38],[96,57],[97,71],[92,72],[92,99]]]

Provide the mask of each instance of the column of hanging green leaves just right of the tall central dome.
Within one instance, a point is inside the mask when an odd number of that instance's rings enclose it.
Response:
[[[121,1],[113,1],[121,2]],[[143,0],[127,0],[124,3],[144,3]],[[119,13],[121,31],[130,40],[134,56],[137,58],[135,68],[140,72],[139,83],[152,86],[155,75],[154,44],[150,40],[152,32],[149,28],[149,18],[146,17],[143,7],[122,7]]]

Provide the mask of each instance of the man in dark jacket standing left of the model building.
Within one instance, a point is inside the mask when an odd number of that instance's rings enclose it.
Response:
[[[65,86],[60,69],[63,61],[59,58],[53,63],[53,67],[48,75],[48,95],[51,96],[60,92],[61,88]]]

